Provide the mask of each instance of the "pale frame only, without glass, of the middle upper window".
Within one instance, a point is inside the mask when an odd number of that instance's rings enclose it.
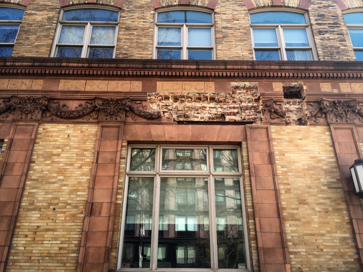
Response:
[[[166,11],[200,11],[205,13],[210,13],[212,15],[212,24],[190,24],[190,23],[158,23],[158,13],[166,12]],[[167,45],[158,45],[158,29],[159,27],[180,27],[181,28],[181,45],[180,46],[167,46]],[[211,29],[212,35],[212,46],[188,46],[188,28],[207,28]],[[212,49],[212,59],[217,59],[216,53],[216,31],[215,31],[215,20],[214,20],[214,12],[209,11],[207,9],[202,8],[163,8],[155,11],[155,19],[154,19],[154,42],[153,42],[153,52],[152,58],[157,59],[158,48],[175,48],[181,49],[180,59],[187,60],[188,59],[188,49]]]

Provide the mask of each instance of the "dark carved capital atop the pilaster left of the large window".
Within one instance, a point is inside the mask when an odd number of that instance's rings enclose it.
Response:
[[[94,104],[99,108],[100,121],[123,121],[126,111],[129,111],[131,97],[121,99],[96,97]]]

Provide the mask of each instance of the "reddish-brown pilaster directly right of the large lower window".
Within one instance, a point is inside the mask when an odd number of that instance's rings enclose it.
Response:
[[[270,125],[246,125],[261,272],[290,271]]]

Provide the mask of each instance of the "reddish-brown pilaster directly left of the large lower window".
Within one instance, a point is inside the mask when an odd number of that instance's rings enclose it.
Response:
[[[99,123],[77,271],[108,271],[123,123]]]

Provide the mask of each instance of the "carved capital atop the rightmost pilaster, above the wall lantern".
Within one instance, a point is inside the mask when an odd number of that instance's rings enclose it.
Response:
[[[321,99],[322,112],[325,113],[329,123],[354,123],[354,115],[358,112],[358,101]],[[361,111],[361,110],[359,110]]]

